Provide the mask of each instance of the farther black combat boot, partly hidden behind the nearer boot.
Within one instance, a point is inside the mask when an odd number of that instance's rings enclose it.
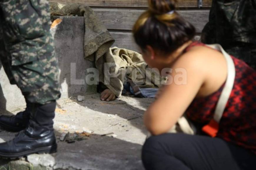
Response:
[[[29,124],[29,117],[30,117],[30,111],[29,111],[29,101],[26,100],[26,110],[17,113],[13,116],[6,116],[1,115],[0,116],[0,127],[3,130],[11,131],[11,132],[19,132],[21,130],[24,130],[28,124]]]

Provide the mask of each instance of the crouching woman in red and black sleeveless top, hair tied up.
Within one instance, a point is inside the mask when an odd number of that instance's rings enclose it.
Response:
[[[205,44],[192,42],[195,28],[175,11],[174,0],[149,0],[133,28],[136,43],[147,64],[166,68],[171,77],[186,70],[186,83],[165,85],[144,115],[153,135],[142,149],[146,169],[227,170],[255,169],[256,162],[256,72],[232,57],[233,89],[225,105],[216,137],[205,134],[167,133],[185,113],[202,127],[214,116],[225,86],[228,67],[224,55]]]

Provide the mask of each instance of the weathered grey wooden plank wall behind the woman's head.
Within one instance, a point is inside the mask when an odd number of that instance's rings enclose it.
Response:
[[[114,46],[139,51],[132,37],[132,26],[147,9],[147,0],[50,0],[62,4],[81,3],[93,8],[97,16],[115,39]],[[197,31],[196,39],[208,22],[212,0],[203,0],[203,8],[197,8],[197,0],[178,0],[178,13],[192,23]]]

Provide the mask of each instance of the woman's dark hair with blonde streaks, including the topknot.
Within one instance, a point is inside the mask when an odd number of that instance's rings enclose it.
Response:
[[[133,27],[135,42],[143,51],[147,45],[171,54],[195,36],[195,27],[175,10],[176,0],[148,0],[149,9]]]

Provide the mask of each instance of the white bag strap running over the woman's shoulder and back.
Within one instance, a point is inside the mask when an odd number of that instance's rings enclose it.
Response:
[[[213,117],[216,122],[220,123],[220,119],[222,118],[227,101],[230,97],[231,91],[234,86],[235,64],[234,64],[232,58],[230,57],[230,55],[228,55],[227,52],[225,52],[225,50],[223,50],[221,45],[213,44],[213,45],[207,45],[207,46],[222,52],[222,54],[224,55],[224,57],[227,61],[227,71],[228,71],[227,72],[227,80],[226,80],[226,84],[222,90],[222,93],[220,95],[219,101],[218,101],[216,109],[215,109],[214,117]]]

